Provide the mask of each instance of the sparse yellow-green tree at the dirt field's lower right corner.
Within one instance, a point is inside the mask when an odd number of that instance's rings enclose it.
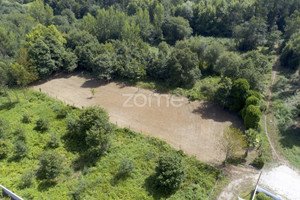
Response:
[[[240,129],[232,127],[225,130],[223,137],[221,138],[220,145],[222,150],[226,153],[224,167],[226,167],[228,158],[234,157],[247,146],[243,132]]]

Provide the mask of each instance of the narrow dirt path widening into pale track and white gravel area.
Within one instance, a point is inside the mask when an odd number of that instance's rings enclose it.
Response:
[[[259,182],[260,186],[272,191],[273,193],[286,200],[300,200],[300,173],[294,169],[289,163],[281,157],[274,147],[274,142],[271,140],[268,132],[267,120],[270,112],[270,104],[272,97],[272,87],[275,83],[279,63],[279,56],[276,56],[276,62],[272,69],[271,83],[268,90],[267,110],[264,115],[265,133],[270,143],[273,163],[266,165],[262,169],[262,176]],[[260,171],[249,167],[230,167],[225,170],[229,174],[231,182],[223,189],[218,197],[219,200],[237,199],[237,196],[244,191],[254,189]]]

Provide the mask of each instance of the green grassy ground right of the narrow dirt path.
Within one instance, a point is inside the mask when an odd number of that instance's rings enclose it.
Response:
[[[273,87],[271,113],[267,123],[279,153],[300,169],[300,120],[297,116],[299,88],[299,74],[280,68]]]

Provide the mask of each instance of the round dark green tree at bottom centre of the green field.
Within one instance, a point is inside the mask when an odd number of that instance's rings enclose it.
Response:
[[[156,184],[164,191],[174,191],[185,180],[182,157],[177,154],[162,154],[156,168]]]

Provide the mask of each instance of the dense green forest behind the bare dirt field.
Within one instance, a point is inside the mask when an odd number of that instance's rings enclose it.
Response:
[[[37,79],[74,70],[108,81],[150,78],[186,88],[201,77],[221,76],[214,100],[241,111],[249,121],[253,112],[259,114],[253,108],[259,105],[247,105],[246,100],[254,91],[264,91],[269,55],[281,35],[282,63],[294,69],[299,65],[300,2],[265,3],[2,1],[1,86],[25,88]]]

